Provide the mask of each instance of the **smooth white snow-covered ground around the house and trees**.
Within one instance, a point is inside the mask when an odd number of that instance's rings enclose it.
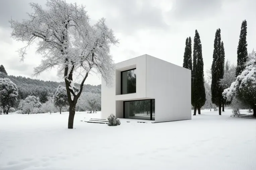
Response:
[[[77,112],[72,130],[66,112],[0,115],[0,169],[255,170],[256,119],[230,114],[109,127],[80,121],[100,113]]]

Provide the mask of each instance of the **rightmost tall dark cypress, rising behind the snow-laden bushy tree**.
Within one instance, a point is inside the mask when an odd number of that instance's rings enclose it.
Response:
[[[247,42],[246,42],[246,35],[247,35],[247,21],[244,20],[241,25],[240,31],[240,38],[237,48],[237,70],[236,70],[236,77],[242,73],[245,69],[245,63],[247,61]]]

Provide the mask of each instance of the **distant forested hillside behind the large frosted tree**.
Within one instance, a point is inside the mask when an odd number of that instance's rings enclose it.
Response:
[[[40,98],[42,103],[47,100],[47,96],[53,96],[59,85],[65,87],[65,82],[43,81],[37,79],[30,79],[21,76],[7,76],[18,88],[18,99],[25,99],[28,95],[34,95]],[[74,84],[79,87],[79,84]],[[101,85],[83,85],[83,92],[101,93]]]

